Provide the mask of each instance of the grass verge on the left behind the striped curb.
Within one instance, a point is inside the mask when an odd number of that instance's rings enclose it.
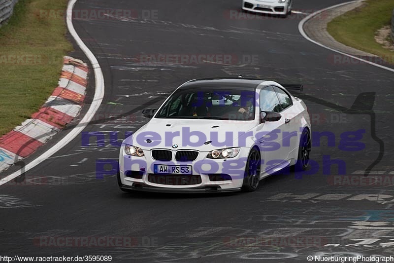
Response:
[[[68,0],[19,0],[0,28],[0,136],[30,118],[56,88],[72,50],[64,17]]]

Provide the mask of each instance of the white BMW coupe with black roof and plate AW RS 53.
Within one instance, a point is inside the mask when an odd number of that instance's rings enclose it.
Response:
[[[302,85],[284,85],[300,89]],[[306,169],[311,125],[305,104],[273,81],[190,80],[126,138],[118,184],[125,191],[253,191],[290,165]]]

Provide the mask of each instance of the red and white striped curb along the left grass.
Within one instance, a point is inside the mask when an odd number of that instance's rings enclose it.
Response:
[[[80,112],[85,99],[88,66],[64,57],[58,87],[41,109],[20,126],[0,137],[0,172],[29,156]]]

